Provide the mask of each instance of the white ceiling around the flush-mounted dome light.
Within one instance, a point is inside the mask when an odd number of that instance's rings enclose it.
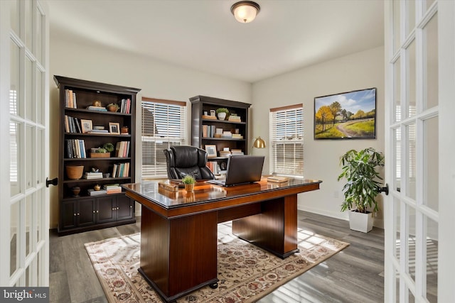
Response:
[[[383,0],[47,0],[50,38],[104,45],[181,67],[257,82],[383,45]]]

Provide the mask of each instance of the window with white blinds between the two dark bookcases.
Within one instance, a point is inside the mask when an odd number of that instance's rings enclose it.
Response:
[[[185,142],[186,103],[142,97],[142,179],[167,177],[163,150]]]

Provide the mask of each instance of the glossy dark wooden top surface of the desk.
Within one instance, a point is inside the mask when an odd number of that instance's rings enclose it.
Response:
[[[161,189],[159,188],[159,181],[122,184],[122,187],[124,187],[127,192],[137,194],[139,197],[146,199],[146,201],[158,204],[164,209],[173,209],[176,207],[217,202],[226,199],[236,199],[255,194],[264,195],[289,189],[296,189],[299,191],[299,188],[302,188],[301,192],[305,192],[304,187],[314,184],[317,184],[319,187],[319,183],[321,183],[319,180],[302,180],[294,178],[289,178],[289,181],[287,182],[275,183],[267,182],[267,177],[262,177],[260,182],[240,184],[232,187],[223,187],[200,181],[195,184],[194,192],[186,192],[185,189],[178,189],[177,192]]]

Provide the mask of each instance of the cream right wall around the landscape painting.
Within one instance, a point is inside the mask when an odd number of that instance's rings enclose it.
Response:
[[[299,194],[299,209],[348,219],[341,213],[343,202],[339,158],[352,148],[373,147],[384,152],[384,50],[382,47],[323,62],[301,70],[279,75],[253,84],[252,137],[261,136],[269,143],[266,122],[269,109],[292,104],[304,104],[304,177],[322,180],[321,189]],[[375,140],[314,140],[314,97],[377,88]],[[257,155],[269,155],[254,149]],[[268,173],[266,160],[264,172]],[[381,197],[380,206],[382,206]],[[382,209],[376,214],[375,226],[382,227]]]

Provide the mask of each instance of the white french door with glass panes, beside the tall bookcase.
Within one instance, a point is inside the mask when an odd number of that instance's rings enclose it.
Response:
[[[0,14],[0,285],[48,286],[48,21],[36,0]]]

